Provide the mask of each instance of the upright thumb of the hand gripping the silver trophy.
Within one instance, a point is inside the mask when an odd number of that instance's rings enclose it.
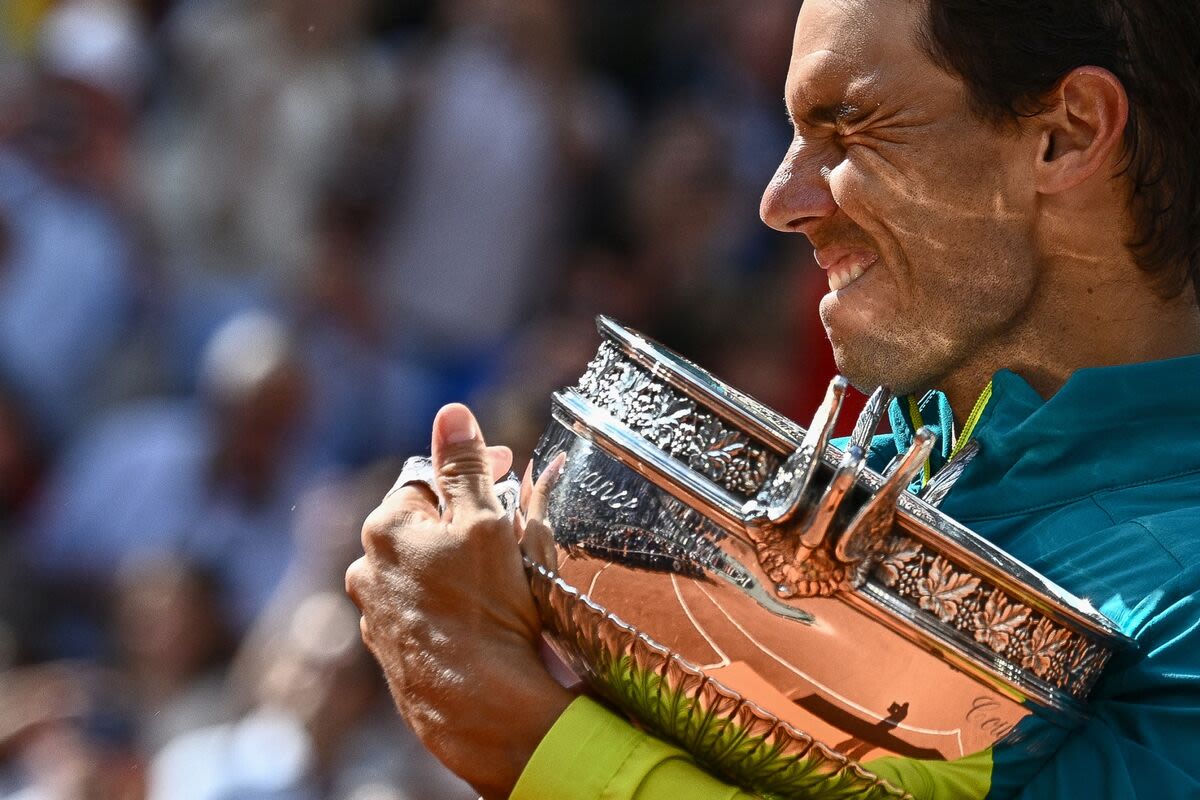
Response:
[[[451,403],[433,419],[433,474],[446,511],[454,515],[482,511],[502,515],[492,479],[492,459],[475,415],[462,403]]]

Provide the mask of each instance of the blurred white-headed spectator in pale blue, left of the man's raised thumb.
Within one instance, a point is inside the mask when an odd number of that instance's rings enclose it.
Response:
[[[230,320],[206,350],[200,383],[203,402],[124,408],[64,456],[30,547],[66,600],[106,589],[138,553],[184,554],[214,570],[235,628],[270,596],[292,551],[292,509],[317,473],[300,435],[307,387],[288,331],[262,313]],[[67,640],[52,649],[96,646],[74,640],[86,630],[60,633]]]

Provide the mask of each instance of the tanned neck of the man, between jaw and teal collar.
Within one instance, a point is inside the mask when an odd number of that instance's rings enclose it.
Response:
[[[1012,369],[1049,399],[1076,369],[1200,353],[1200,306],[1190,285],[1170,300],[1129,266],[1130,279],[1088,269],[1051,272],[1021,321],[938,384],[961,425],[997,369]],[[1109,272],[1111,275],[1111,272]]]

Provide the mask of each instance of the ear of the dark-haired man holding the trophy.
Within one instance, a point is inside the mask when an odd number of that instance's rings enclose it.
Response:
[[[1121,146],[1129,98],[1115,74],[1079,67],[1058,82],[1037,119],[1043,126],[1038,192],[1072,190],[1110,163]]]

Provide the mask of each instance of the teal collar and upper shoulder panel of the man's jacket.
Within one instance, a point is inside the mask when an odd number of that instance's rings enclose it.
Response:
[[[906,405],[900,398],[889,413],[899,452],[914,433]],[[941,434],[936,470],[953,439],[944,396],[926,398],[922,419]],[[1200,471],[1200,450],[1180,444],[1198,429],[1200,355],[1080,369],[1048,401],[1002,369],[974,428],[980,452],[942,507],[965,522],[986,519]]]

